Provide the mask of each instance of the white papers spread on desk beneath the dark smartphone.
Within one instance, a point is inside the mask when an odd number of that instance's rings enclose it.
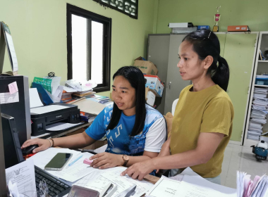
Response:
[[[36,166],[44,169],[44,166],[49,163],[56,153],[73,154],[71,160],[63,168],[63,170],[47,171],[53,176],[65,180],[68,184],[102,191],[104,186],[112,182],[117,185],[117,190],[111,197],[119,197],[121,192],[133,185],[137,186],[135,190],[135,197],[142,196],[142,194],[149,191],[149,189],[153,186],[153,184],[144,180],[134,180],[127,175],[124,177],[120,176],[121,172],[126,170],[126,167],[112,167],[104,170],[90,167],[90,165],[83,163],[83,160],[85,158],[90,158],[92,156],[91,153],[80,153],[79,151],[73,151],[68,148],[48,148],[45,151],[33,155],[28,160],[32,160]],[[73,160],[79,158],[80,155],[83,155],[83,157],[77,160],[73,165],[68,166],[69,163],[72,163]]]

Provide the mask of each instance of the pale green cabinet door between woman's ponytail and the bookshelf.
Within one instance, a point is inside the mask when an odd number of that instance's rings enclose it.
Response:
[[[228,94],[235,111],[231,140],[240,141],[248,106],[248,88],[252,75],[256,34],[226,34],[224,58],[229,64]]]

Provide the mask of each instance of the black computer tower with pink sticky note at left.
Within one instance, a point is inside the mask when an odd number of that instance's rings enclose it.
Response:
[[[8,84],[17,82],[18,85],[18,102],[1,103],[1,113],[10,115],[15,118],[18,138],[20,145],[31,135],[31,120],[30,120],[30,97],[28,77],[25,76],[0,76],[0,96],[1,93],[8,93]]]

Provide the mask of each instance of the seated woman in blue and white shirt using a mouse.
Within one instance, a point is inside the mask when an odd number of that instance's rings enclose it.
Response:
[[[145,104],[145,78],[134,66],[125,66],[113,76],[114,105],[106,106],[92,125],[81,134],[55,138],[54,146],[81,148],[104,135],[108,140],[105,153],[99,153],[93,167],[104,169],[157,157],[166,140],[166,122],[159,111]],[[22,148],[38,144],[33,153],[51,147],[51,140],[30,139]]]

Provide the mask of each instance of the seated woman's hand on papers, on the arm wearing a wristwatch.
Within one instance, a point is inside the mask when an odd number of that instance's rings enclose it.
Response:
[[[112,153],[98,153],[97,155],[93,155],[90,160],[94,160],[90,166],[99,167],[99,169],[123,165],[122,155]]]

